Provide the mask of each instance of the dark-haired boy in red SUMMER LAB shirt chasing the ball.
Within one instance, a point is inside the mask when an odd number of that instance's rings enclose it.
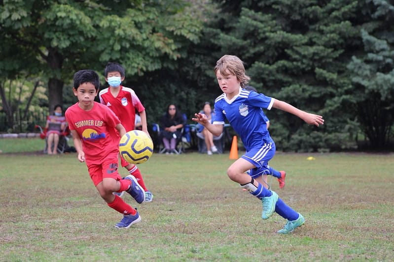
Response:
[[[86,162],[90,178],[107,205],[123,214],[117,228],[129,228],[141,221],[136,209],[113,192],[128,192],[139,204],[145,200],[143,188],[133,175],[122,179],[117,172],[119,136],[126,133],[120,120],[106,106],[94,102],[99,76],[92,70],[74,74],[74,95],[78,102],[66,111],[79,162]],[[117,133],[118,132],[118,133]]]

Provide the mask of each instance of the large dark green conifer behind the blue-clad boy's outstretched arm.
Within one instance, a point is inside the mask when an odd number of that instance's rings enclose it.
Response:
[[[275,123],[270,131],[277,145],[299,151],[355,146],[356,114],[343,110],[338,97],[352,88],[347,63],[361,50],[358,25],[365,22],[359,15],[362,3],[216,2],[224,11],[218,12],[205,37],[218,47],[217,58],[237,55],[245,61],[251,85],[257,90],[326,119],[324,126],[317,128],[278,110],[267,112]]]

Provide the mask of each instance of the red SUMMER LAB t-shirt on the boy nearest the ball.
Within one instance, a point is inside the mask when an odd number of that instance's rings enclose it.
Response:
[[[119,136],[115,126],[120,120],[107,106],[94,102],[90,111],[78,103],[66,111],[70,130],[76,130],[82,140],[86,164],[101,164],[109,155],[119,153]]]

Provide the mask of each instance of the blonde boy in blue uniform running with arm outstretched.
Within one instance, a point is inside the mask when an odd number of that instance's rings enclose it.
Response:
[[[274,212],[287,219],[284,228],[277,233],[291,233],[304,224],[304,217],[285,204],[277,193],[262,186],[262,175],[267,173],[268,161],[274,156],[276,148],[261,109],[278,108],[317,126],[323,124],[324,120],[322,116],[299,110],[286,102],[244,90],[250,77],[245,74],[244,63],[236,56],[221,57],[217,60],[214,71],[223,91],[215,99],[214,122],[211,124],[207,116],[201,113],[195,114],[192,120],[204,125],[215,136],[223,132],[226,119],[230,122],[241,137],[246,153],[227,169],[228,177],[261,200],[262,219],[268,219]],[[248,170],[251,170],[250,174],[246,173]]]

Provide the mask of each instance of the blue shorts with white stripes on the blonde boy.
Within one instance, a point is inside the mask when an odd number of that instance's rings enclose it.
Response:
[[[241,156],[243,159],[251,162],[255,166],[255,168],[251,169],[249,175],[256,178],[260,175],[270,174],[268,161],[274,157],[275,151],[275,143],[271,140],[270,142],[265,142],[260,146],[253,147]]]

